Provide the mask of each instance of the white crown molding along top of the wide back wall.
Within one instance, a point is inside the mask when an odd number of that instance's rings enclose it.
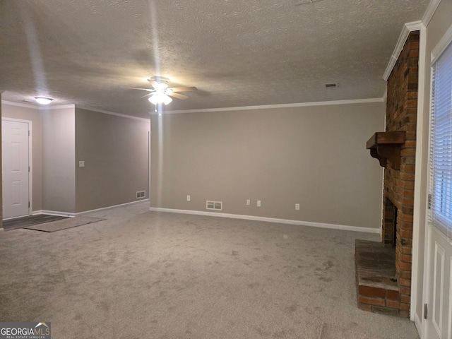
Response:
[[[257,105],[257,106],[221,107],[221,108],[204,108],[204,109],[181,109],[179,111],[164,111],[163,113],[176,114],[176,113],[226,112],[226,111],[242,111],[242,110],[246,110],[246,109],[275,109],[275,108],[290,108],[290,107],[368,104],[371,102],[383,102],[383,98],[375,97],[375,98],[371,98],[371,99],[299,102],[299,103],[295,103],[295,104]],[[156,112],[148,112],[148,113],[150,115],[157,115]]]

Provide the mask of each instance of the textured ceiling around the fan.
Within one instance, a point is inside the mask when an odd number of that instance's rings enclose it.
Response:
[[[382,97],[428,0],[0,0],[0,91],[147,117],[146,78],[196,86],[166,109]],[[325,83],[338,82],[336,89]]]

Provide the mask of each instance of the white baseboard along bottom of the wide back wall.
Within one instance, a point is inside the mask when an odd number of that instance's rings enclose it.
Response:
[[[278,224],[289,224],[289,225],[299,225],[299,226],[309,226],[309,227],[331,228],[331,229],[334,229],[334,230],[344,230],[344,231],[355,231],[355,232],[367,232],[367,233],[381,234],[381,228],[368,228],[368,227],[357,227],[357,226],[347,226],[347,225],[324,224],[324,223],[321,223],[321,222],[309,222],[309,221],[300,221],[300,220],[287,220],[287,219],[277,219],[277,218],[267,218],[267,217],[256,217],[254,215],[205,212],[205,211],[202,211],[202,210],[174,210],[172,208],[159,208],[159,207],[150,207],[149,210],[153,210],[155,212],[169,212],[169,213],[182,213],[182,214],[194,214],[194,215],[208,215],[210,217],[232,218],[232,219],[243,219],[243,220],[256,220],[256,221],[265,221],[265,222],[276,222]]]

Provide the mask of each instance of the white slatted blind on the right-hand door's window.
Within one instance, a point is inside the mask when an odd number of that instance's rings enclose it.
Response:
[[[452,241],[452,44],[432,67],[430,222]]]

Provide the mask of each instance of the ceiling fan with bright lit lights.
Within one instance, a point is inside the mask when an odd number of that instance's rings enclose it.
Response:
[[[143,97],[149,97],[149,101],[154,105],[157,104],[165,104],[168,105],[169,102],[172,102],[171,97],[176,97],[177,99],[185,100],[188,98],[187,95],[178,93],[178,92],[191,92],[194,90],[198,90],[196,87],[173,87],[169,88],[169,79],[163,76],[153,76],[152,78],[148,78],[150,85],[153,88],[132,88],[134,90],[147,90],[150,92],[149,94],[143,95]]]

